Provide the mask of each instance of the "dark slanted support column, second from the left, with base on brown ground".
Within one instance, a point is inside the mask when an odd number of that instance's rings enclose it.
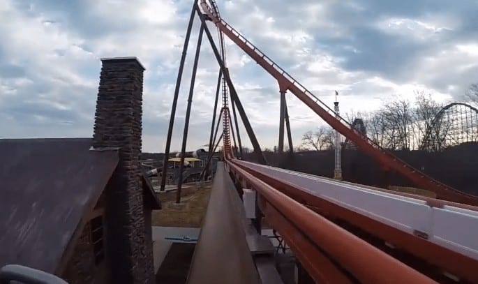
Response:
[[[191,86],[189,87],[188,107],[186,109],[186,118],[184,119],[183,145],[181,147],[181,161],[179,162],[179,179],[176,192],[176,203],[181,202],[181,186],[183,184],[184,170],[184,152],[186,152],[186,141],[188,140],[189,117],[191,116],[191,103],[193,103],[194,83],[196,80],[197,62],[201,51],[202,33],[204,32],[204,24],[201,24],[199,37],[197,38],[196,54],[194,57],[193,75],[191,75]]]

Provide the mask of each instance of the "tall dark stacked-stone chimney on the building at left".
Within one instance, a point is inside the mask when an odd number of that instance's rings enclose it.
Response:
[[[154,283],[140,165],[144,67],[135,57],[101,61],[92,147],[119,149],[119,164],[106,189],[110,282]]]

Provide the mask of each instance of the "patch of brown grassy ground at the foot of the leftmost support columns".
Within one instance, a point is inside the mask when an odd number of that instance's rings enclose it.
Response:
[[[211,193],[211,182],[185,184],[181,204],[176,204],[176,190],[159,193],[163,209],[153,211],[153,225],[163,227],[201,227]]]

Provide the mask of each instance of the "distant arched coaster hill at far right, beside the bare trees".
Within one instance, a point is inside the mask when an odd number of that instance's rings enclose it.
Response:
[[[441,151],[464,142],[478,142],[478,110],[467,103],[450,103],[435,115],[420,149]]]

